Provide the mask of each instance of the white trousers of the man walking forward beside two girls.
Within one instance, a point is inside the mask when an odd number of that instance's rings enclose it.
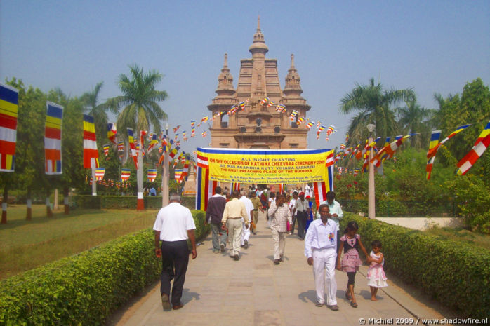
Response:
[[[312,257],[314,285],[317,289],[317,301],[320,304],[324,304],[324,293],[326,292],[326,304],[329,306],[336,305],[337,283],[335,280],[335,262],[337,254],[335,249],[314,249]]]

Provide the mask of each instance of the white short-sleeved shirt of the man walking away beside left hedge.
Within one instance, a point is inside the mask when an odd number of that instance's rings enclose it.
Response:
[[[160,240],[187,240],[187,230],[196,229],[189,208],[180,203],[170,203],[161,208],[153,225],[155,231],[160,231]]]

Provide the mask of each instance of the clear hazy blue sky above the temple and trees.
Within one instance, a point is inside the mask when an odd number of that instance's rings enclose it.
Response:
[[[224,53],[236,87],[258,15],[282,88],[294,53],[308,117],[338,129],[329,142],[310,131],[309,148],[343,142],[352,115],[339,113],[340,99],[371,77],[413,88],[428,108],[434,93],[461,93],[477,77],[490,83],[489,1],[2,0],[0,79],[71,96],[103,81],[103,102],[121,95],[117,77],[129,64],[156,69],[169,124],[190,135],[190,120],[208,115]],[[204,130],[183,149],[207,147]]]

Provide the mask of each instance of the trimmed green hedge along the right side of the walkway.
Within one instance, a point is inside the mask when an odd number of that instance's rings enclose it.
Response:
[[[359,224],[366,250],[380,240],[385,269],[445,306],[472,318],[486,318],[490,306],[490,251],[444,240],[421,231],[347,213],[347,222]]]

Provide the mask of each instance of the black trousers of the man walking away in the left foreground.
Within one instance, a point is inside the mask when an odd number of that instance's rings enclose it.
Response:
[[[187,240],[161,242],[160,294],[170,297],[170,281],[173,280],[171,303],[180,304],[185,281],[185,272],[189,264]]]

